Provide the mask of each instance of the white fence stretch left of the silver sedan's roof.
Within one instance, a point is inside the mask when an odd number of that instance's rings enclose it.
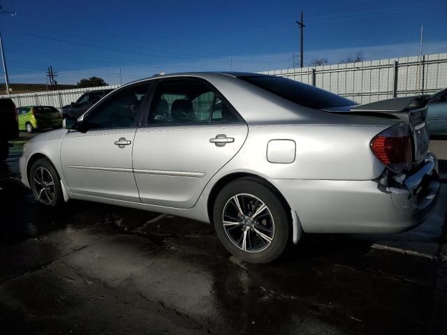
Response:
[[[78,98],[87,91],[94,89],[116,89],[119,85],[110,85],[103,87],[87,87],[77,89],[64,89],[61,91],[43,91],[33,93],[9,94],[0,96],[0,98],[12,98],[17,107],[43,105],[54,106],[61,109],[65,105],[78,100]]]

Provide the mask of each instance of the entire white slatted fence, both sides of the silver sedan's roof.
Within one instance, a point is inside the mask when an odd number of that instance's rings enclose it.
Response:
[[[447,87],[447,54],[427,54],[333,64],[315,68],[288,68],[261,73],[279,75],[312,84],[350,98],[358,103],[370,103],[397,96],[432,94]],[[81,94],[94,89],[116,89],[119,85],[66,89],[35,93],[10,94],[17,107],[50,105],[61,108],[76,101]]]

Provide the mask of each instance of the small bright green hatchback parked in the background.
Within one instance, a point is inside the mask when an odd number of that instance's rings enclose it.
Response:
[[[61,128],[62,117],[52,106],[25,106],[17,108],[19,130],[32,133],[36,129]]]

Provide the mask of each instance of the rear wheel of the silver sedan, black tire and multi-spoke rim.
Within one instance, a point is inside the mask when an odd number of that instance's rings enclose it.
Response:
[[[254,178],[236,179],[222,188],[213,223],[223,246],[246,262],[276,260],[290,239],[286,207],[274,189]]]

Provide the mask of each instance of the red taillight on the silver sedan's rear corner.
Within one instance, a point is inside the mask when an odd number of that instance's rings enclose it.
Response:
[[[413,142],[409,126],[400,124],[386,129],[371,141],[371,149],[387,168],[399,173],[411,168],[413,162]]]

